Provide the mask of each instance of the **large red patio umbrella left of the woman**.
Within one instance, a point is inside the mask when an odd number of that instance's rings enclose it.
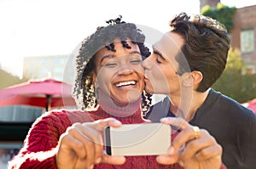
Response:
[[[75,106],[72,85],[54,79],[20,83],[0,90],[0,106],[25,104],[44,107]]]

